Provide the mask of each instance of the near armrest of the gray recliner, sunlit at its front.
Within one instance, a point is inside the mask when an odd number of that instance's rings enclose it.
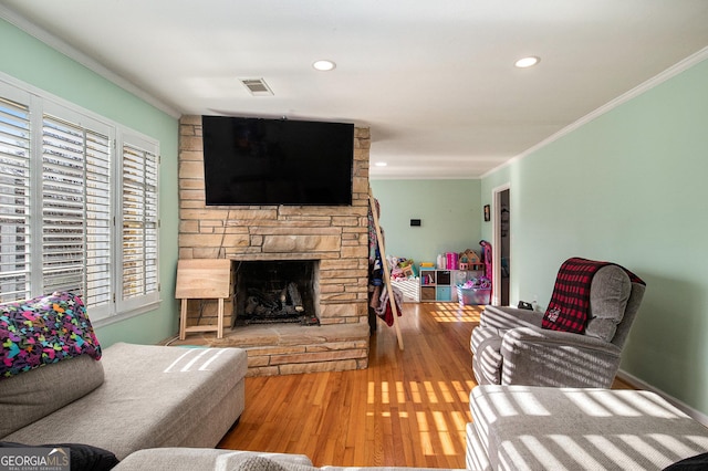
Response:
[[[519,327],[504,334],[503,385],[612,386],[621,349],[595,337],[568,332]]]

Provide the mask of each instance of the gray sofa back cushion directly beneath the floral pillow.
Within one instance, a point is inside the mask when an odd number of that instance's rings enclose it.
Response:
[[[0,379],[0,438],[87,395],[103,381],[102,363],[88,355]]]

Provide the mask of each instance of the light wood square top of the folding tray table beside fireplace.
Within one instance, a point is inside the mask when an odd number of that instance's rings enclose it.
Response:
[[[177,262],[178,300],[211,300],[231,296],[231,260],[184,259]]]

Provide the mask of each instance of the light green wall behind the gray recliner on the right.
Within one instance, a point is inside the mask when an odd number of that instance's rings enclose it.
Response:
[[[708,61],[482,179],[511,185],[511,296],[545,307],[563,260],[647,282],[622,369],[708,412]],[[491,237],[486,233],[485,237]]]

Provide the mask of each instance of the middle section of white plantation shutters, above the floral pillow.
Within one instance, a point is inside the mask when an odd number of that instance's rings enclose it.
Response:
[[[44,115],[42,121],[42,286],[111,299],[111,140]]]

